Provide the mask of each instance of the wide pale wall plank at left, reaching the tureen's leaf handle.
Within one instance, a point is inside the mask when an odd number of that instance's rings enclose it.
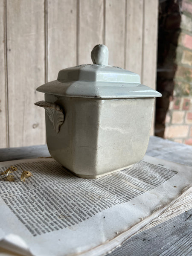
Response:
[[[7,50],[10,146],[43,144],[44,0],[7,0]]]

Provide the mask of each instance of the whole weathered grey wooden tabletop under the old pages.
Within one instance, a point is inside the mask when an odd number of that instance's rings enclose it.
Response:
[[[192,146],[151,136],[146,154],[192,166]],[[47,145],[0,148],[0,161],[50,156]],[[108,256],[189,256],[192,255],[192,209],[145,230]]]

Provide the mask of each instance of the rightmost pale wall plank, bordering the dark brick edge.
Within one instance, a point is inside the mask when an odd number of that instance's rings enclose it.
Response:
[[[157,26],[158,0],[145,0],[143,16],[143,60],[141,81],[143,84],[153,89],[156,88]],[[154,114],[151,125],[151,135],[153,134]]]

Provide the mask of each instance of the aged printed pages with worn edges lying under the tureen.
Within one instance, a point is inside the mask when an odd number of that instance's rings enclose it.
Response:
[[[192,167],[146,155],[91,180],[50,158],[1,162],[0,172],[17,164],[33,177],[0,179],[0,247],[26,256],[103,255],[191,193]]]

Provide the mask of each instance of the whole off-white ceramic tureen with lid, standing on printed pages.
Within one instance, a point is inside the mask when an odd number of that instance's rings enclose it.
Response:
[[[52,157],[79,177],[96,178],[141,160],[148,146],[157,91],[140,76],[108,66],[108,48],[97,45],[93,64],[59,71],[37,88],[45,101]]]

